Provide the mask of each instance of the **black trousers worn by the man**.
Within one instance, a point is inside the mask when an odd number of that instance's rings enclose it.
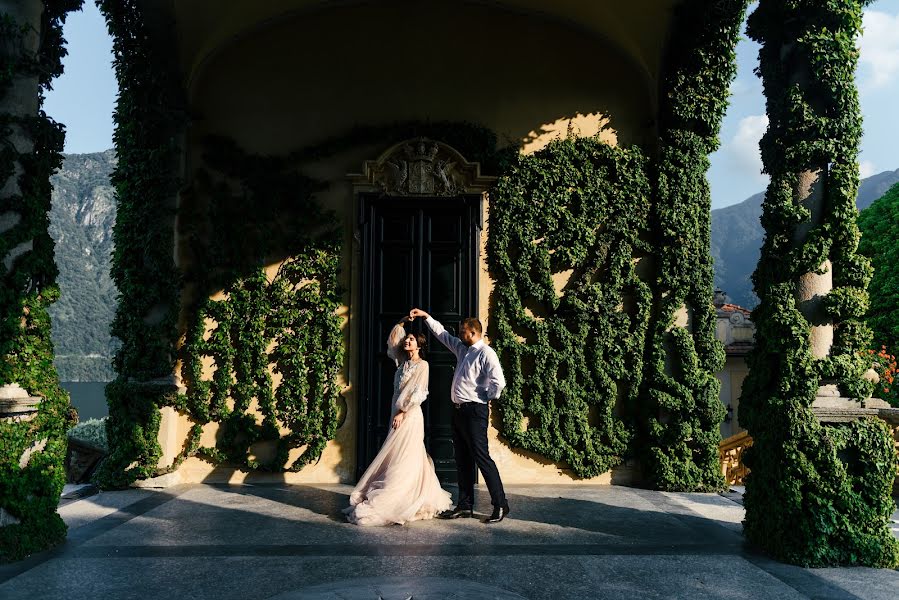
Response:
[[[493,506],[507,506],[506,492],[499,478],[496,463],[487,450],[486,404],[464,402],[453,411],[453,444],[456,452],[456,473],[459,478],[458,508],[474,507],[474,467],[484,477]]]

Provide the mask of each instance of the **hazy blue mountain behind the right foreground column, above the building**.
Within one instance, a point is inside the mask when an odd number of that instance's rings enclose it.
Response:
[[[868,208],[896,182],[899,182],[899,169],[862,179],[856,197],[858,209]],[[764,199],[765,193],[761,192],[739,204],[712,211],[715,285],[727,293],[731,302],[749,309],[759,302],[752,291],[750,277],[759,260],[764,238],[759,220]]]

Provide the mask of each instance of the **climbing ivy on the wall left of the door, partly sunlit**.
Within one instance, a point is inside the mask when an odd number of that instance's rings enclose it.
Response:
[[[225,139],[206,147],[215,172],[201,170],[184,198],[192,254],[185,280],[197,301],[181,348],[188,391],[179,408],[194,425],[171,468],[198,455],[242,469],[297,471],[319,458],[337,429],[340,232],[314,200],[322,185],[288,161],[248,155]],[[284,254],[268,275],[265,265]],[[211,299],[217,290],[223,298]],[[222,433],[215,447],[200,447],[211,422]],[[252,458],[259,441],[275,442],[269,460]],[[288,465],[295,448],[303,450]]]

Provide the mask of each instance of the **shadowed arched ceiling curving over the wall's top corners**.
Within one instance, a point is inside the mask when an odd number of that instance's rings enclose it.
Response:
[[[383,0],[378,0],[383,1]],[[421,2],[398,0],[416,10]],[[586,31],[619,48],[651,80],[658,77],[672,8],[680,0],[474,0],[469,4],[551,19]],[[148,0],[175,25],[178,62],[185,88],[219,49],[272,22],[309,11],[350,9],[375,0]],[[157,12],[157,15],[159,13]],[[166,36],[168,37],[168,36]],[[169,38],[171,39],[171,38]]]

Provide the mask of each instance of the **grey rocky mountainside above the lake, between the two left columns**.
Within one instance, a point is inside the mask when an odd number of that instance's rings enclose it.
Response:
[[[112,150],[65,155],[53,184],[50,236],[56,241],[60,299],[50,307],[61,381],[110,381],[109,335],[117,290],[109,275],[115,198]]]

